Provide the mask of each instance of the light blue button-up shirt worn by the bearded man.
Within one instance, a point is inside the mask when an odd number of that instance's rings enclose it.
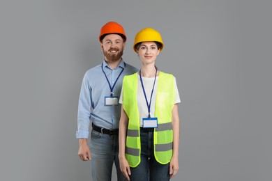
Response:
[[[120,97],[123,77],[138,71],[123,60],[114,70],[109,68],[106,61],[103,61],[103,70],[111,86],[123,70],[113,89],[114,96],[118,97]],[[89,137],[91,122],[105,129],[119,128],[121,104],[105,106],[105,97],[110,96],[111,93],[105,74],[101,64],[87,70],[84,74],[77,113],[77,139]]]

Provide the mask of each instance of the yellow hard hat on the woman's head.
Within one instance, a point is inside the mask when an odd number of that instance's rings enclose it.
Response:
[[[133,49],[135,52],[137,52],[135,45],[137,45],[137,43],[139,42],[160,42],[160,44],[162,45],[160,51],[163,50],[163,38],[162,36],[160,36],[160,33],[155,29],[144,28],[136,34],[133,44]]]

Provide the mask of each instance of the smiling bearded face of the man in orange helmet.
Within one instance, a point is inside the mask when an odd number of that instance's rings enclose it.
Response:
[[[117,34],[109,34],[102,40],[100,47],[105,55],[107,62],[112,63],[119,61],[123,55],[123,49],[126,42]]]

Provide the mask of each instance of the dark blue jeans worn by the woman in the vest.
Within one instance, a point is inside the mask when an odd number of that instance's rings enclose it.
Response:
[[[130,167],[130,180],[164,181],[170,180],[169,164],[160,164],[154,157],[153,132],[140,132],[141,162],[135,168]]]

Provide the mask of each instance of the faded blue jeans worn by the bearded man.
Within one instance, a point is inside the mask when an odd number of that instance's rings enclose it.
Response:
[[[126,180],[119,166],[118,136],[110,136],[91,130],[91,168],[93,181],[112,180],[112,166],[116,167],[119,181]]]

